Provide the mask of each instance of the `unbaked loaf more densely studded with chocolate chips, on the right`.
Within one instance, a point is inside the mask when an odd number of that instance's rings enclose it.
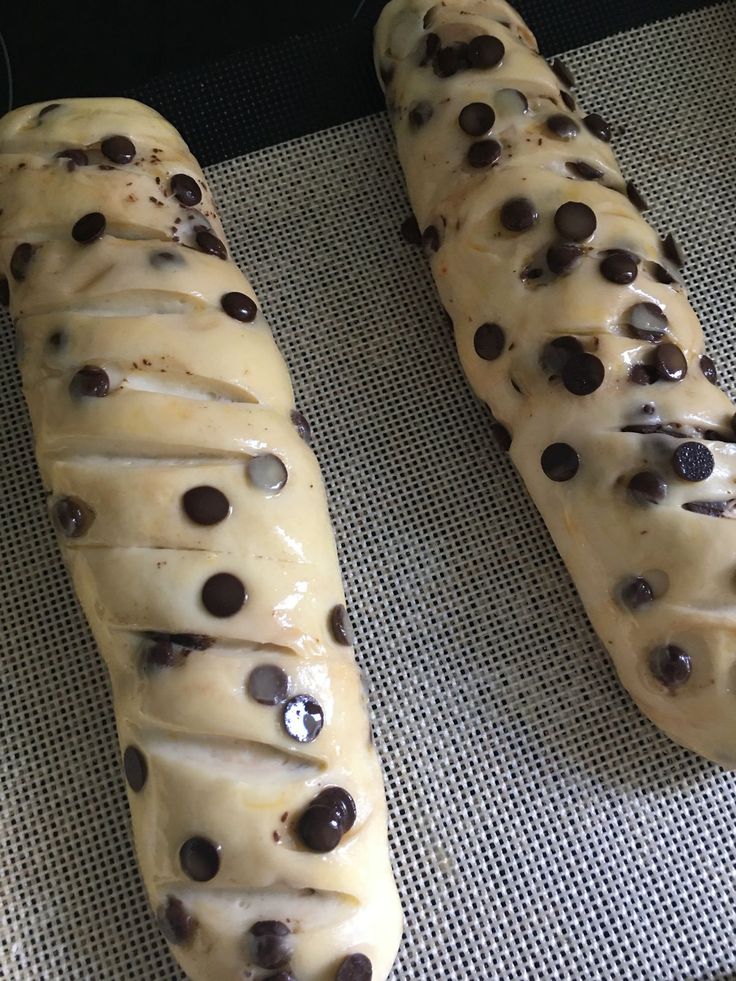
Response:
[[[405,234],[498,441],[637,704],[736,766],[734,407],[675,240],[503,0],[391,0],[376,65]]]

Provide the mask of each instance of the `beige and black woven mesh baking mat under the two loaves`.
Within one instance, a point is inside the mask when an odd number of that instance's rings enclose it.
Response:
[[[729,386],[734,38],[721,5],[568,56],[658,226],[679,230]],[[399,238],[385,118],[209,176],[328,481],[407,912],[395,978],[736,978],[736,777],[618,687]],[[173,981],[4,326],[0,976]]]

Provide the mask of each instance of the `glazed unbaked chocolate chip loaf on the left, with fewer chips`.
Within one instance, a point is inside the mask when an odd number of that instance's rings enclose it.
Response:
[[[401,914],[309,427],[176,131],[123,99],[6,116],[0,273],[174,955],[385,979]]]

